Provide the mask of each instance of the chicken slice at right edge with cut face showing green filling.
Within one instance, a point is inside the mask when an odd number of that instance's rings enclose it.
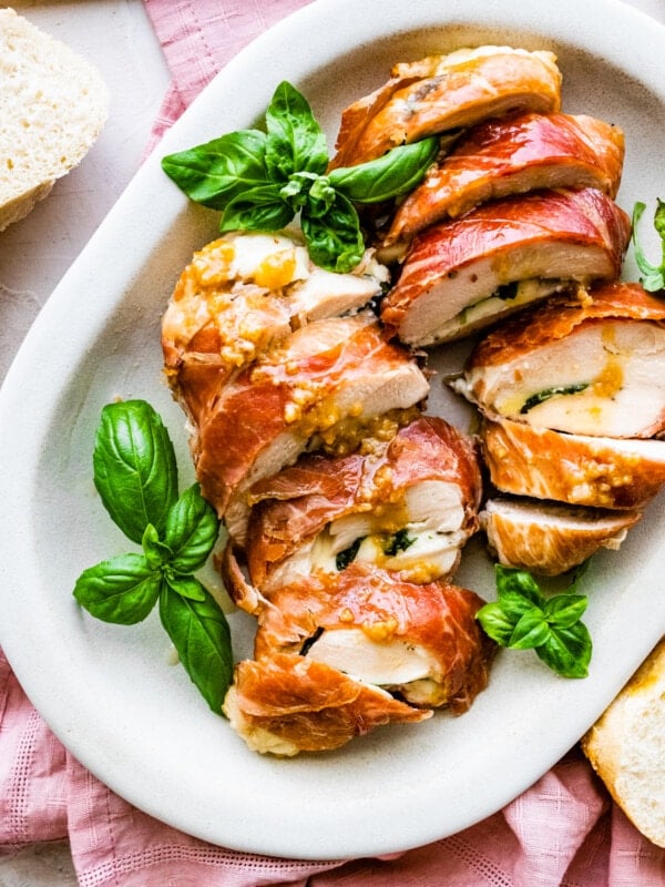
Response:
[[[491,416],[647,438],[665,429],[664,367],[665,303],[612,283],[507,319],[452,387]]]

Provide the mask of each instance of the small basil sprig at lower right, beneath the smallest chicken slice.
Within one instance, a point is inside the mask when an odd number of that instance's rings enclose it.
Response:
[[[501,646],[534,650],[553,671],[564,677],[586,677],[592,641],[581,622],[587,599],[574,592],[545,598],[524,570],[495,564],[497,601],[484,604],[477,619]]]

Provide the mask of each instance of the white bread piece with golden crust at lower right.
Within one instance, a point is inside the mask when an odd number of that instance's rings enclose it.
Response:
[[[665,638],[582,740],[635,827],[665,847]]]

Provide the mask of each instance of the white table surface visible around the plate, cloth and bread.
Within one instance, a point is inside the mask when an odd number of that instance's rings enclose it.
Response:
[[[627,0],[665,23],[665,0]],[[224,2],[224,0],[221,0]],[[42,305],[141,164],[170,75],[141,0],[14,0],[34,24],[86,55],[111,93],[83,162],[0,233],[0,379]],[[90,293],[94,298],[94,293]],[[0,859],[0,887],[75,887],[65,842]]]

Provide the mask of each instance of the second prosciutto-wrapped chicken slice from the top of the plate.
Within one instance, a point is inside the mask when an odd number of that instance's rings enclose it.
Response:
[[[399,206],[387,244],[446,217],[528,191],[595,187],[616,196],[623,132],[580,114],[519,114],[473,126]]]

